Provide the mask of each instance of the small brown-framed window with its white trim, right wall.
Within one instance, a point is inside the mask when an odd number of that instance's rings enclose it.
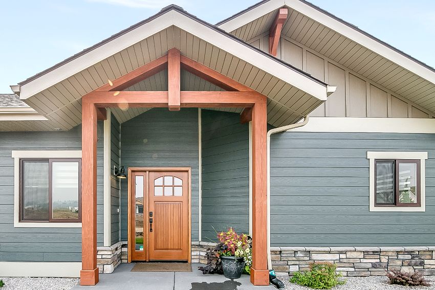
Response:
[[[427,152],[367,152],[370,211],[425,211]]]

